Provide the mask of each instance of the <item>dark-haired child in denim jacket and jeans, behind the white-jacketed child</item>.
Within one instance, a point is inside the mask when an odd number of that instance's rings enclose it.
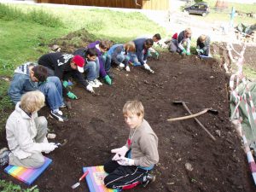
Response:
[[[61,80],[55,76],[48,77],[48,69],[46,67],[26,62],[15,69],[15,75],[9,86],[8,94],[12,102],[16,104],[20,102],[23,94],[32,90],[40,90],[44,93],[46,102],[51,109],[51,117],[59,121],[67,120],[59,109],[65,107]]]

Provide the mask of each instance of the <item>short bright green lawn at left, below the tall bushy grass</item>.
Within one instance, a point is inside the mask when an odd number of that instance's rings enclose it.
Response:
[[[0,20],[0,74],[10,75],[16,66],[25,61],[37,61],[47,51],[51,38],[64,35],[67,30],[26,23]],[[40,47],[39,45],[44,44]]]

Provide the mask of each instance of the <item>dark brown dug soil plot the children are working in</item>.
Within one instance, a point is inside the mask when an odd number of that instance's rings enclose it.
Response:
[[[73,87],[80,99],[72,102],[72,110],[65,110],[69,121],[49,119],[49,129],[57,134],[55,142],[67,139],[68,143],[47,154],[53,164],[34,183],[40,191],[88,191],[85,182],[76,190],[71,186],[82,175],[83,166],[102,165],[112,157],[112,148],[124,145],[129,131],[122,108],[133,99],[143,102],[145,119],[159,137],[160,162],[154,169],[155,183],[131,191],[256,190],[241,140],[229,121],[229,77],[218,63],[169,53],[148,63],[156,73],[140,67],[131,67],[131,73],[113,69],[113,85],[97,88],[96,96]],[[189,102],[192,113],[217,109],[218,115],[205,113],[198,118],[217,141],[213,142],[193,119],[167,122],[168,118],[188,115],[182,106],[173,105],[174,101]],[[41,114],[47,114],[47,109]],[[4,136],[0,143],[6,145]],[[192,171],[186,170],[186,163],[192,165]],[[0,177],[26,187],[6,173]]]

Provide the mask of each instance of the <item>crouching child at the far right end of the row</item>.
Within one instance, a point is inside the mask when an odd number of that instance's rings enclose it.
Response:
[[[210,43],[211,39],[207,35],[201,35],[196,41],[196,51],[198,55],[210,55]]]

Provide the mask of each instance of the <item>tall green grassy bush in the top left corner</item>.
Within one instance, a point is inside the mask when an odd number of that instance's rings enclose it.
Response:
[[[35,22],[50,27],[64,26],[60,18],[50,15],[42,9],[32,9],[32,11],[23,13],[20,9],[3,3],[0,3],[0,19]]]

